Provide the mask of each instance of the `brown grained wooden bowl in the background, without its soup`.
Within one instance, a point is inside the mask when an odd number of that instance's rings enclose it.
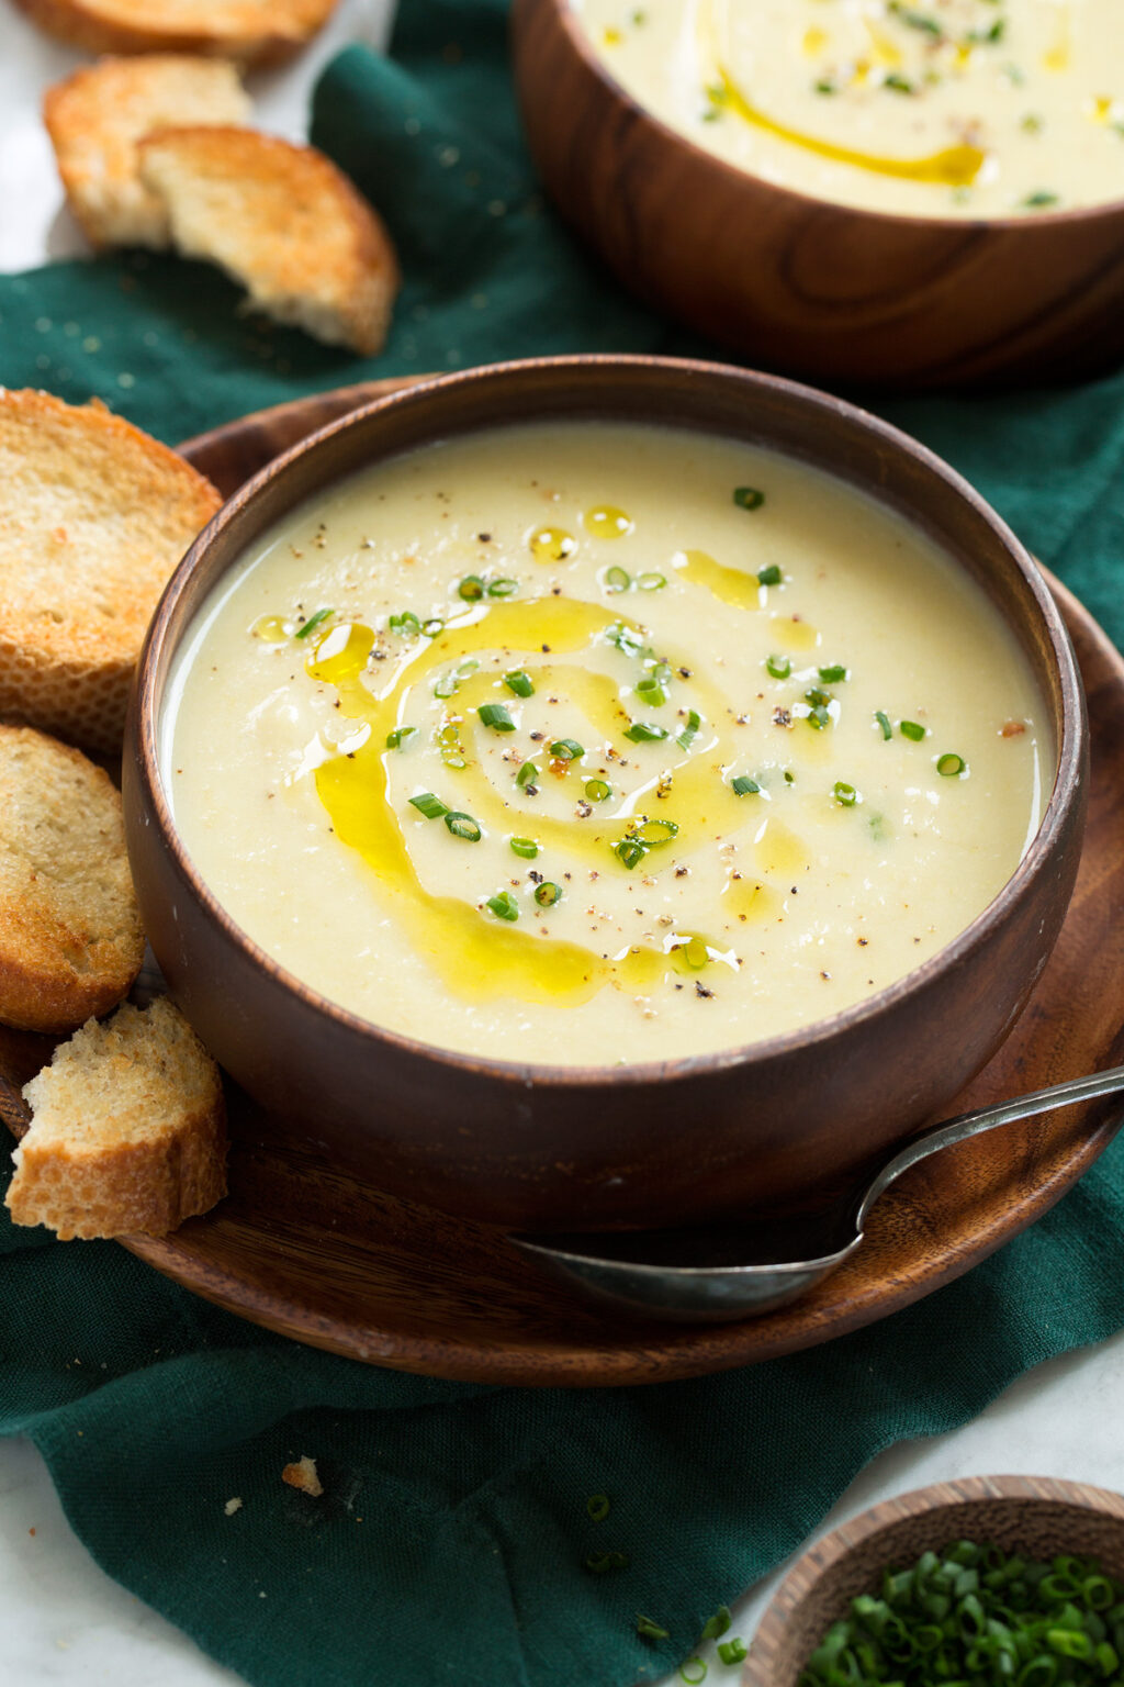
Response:
[[[512,46],[563,216],[625,287],[752,363],[917,388],[1072,380],[1124,353],[1124,201],[967,221],[812,199],[639,106],[568,0],[516,0]]]

